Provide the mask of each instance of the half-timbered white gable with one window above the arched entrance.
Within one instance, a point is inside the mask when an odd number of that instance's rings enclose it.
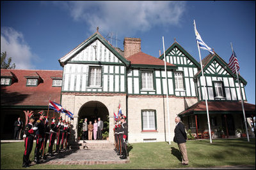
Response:
[[[62,92],[125,92],[124,59],[99,32],[60,59]]]

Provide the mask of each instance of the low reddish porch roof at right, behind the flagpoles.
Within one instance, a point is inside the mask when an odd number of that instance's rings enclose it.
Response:
[[[242,113],[242,105],[240,101],[208,101],[209,113]],[[255,115],[255,104],[244,103],[244,111],[246,115]],[[190,114],[206,114],[205,101],[200,101],[187,110],[182,111],[178,115],[190,115]]]

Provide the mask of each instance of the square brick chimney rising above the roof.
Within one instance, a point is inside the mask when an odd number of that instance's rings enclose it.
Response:
[[[124,57],[127,58],[138,52],[141,52],[141,39],[124,38]]]

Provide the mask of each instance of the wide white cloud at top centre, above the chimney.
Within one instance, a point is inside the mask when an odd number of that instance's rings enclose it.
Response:
[[[184,1],[64,1],[54,2],[68,10],[72,18],[89,24],[95,32],[119,32],[131,36],[155,25],[179,25]]]

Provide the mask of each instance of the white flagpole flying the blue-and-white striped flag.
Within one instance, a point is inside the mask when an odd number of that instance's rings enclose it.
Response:
[[[195,29],[195,34],[196,34],[196,22],[195,22],[195,20],[194,20],[194,27],[195,27],[194,29]],[[207,95],[207,91],[206,91],[206,88],[205,88],[205,78],[204,78],[203,64],[202,64],[201,53],[200,53],[200,48],[199,48],[199,45],[198,45],[198,41],[196,41],[196,43],[197,43],[197,48],[198,48],[198,52],[199,52],[201,71],[202,71],[202,77],[203,77],[203,82],[204,82],[205,105],[206,105],[206,113],[207,113],[207,122],[208,122],[208,128],[209,128],[210,143],[212,143],[211,125],[210,125],[209,110],[208,110],[208,103],[207,103],[208,95]]]

